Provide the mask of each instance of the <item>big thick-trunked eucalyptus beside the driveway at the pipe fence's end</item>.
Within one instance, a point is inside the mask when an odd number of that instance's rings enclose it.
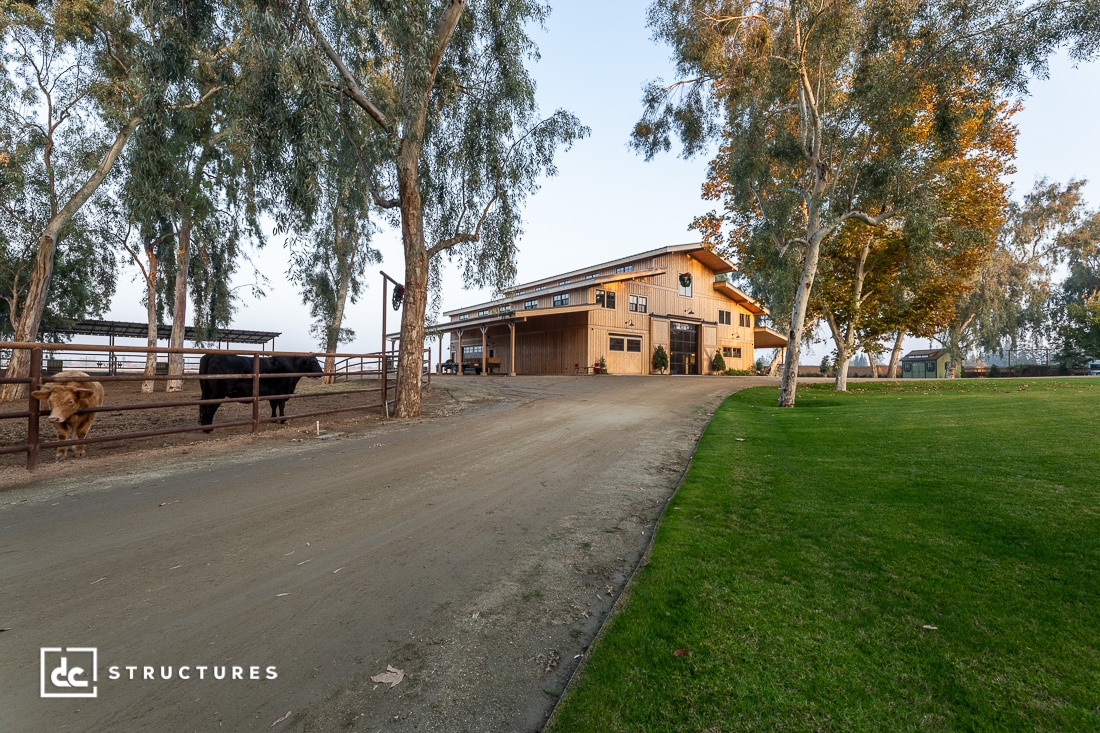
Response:
[[[587,134],[558,110],[541,118],[526,64],[549,8],[531,0],[326,0],[270,6],[308,30],[337,90],[378,139],[369,190],[399,228],[405,296],[395,415],[420,414],[425,316],[433,260],[457,259],[468,284],[515,275],[520,207],[557,171],[557,150]],[[308,173],[308,172],[307,172]]]

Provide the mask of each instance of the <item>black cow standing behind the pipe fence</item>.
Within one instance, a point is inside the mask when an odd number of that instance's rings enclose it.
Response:
[[[261,357],[260,396],[294,394],[300,374],[321,374],[324,370],[312,357]],[[208,353],[199,361],[199,374],[241,374],[239,380],[204,380],[199,387],[204,400],[252,396],[252,358],[231,353]],[[265,374],[299,374],[299,376],[264,376]],[[285,417],[287,397],[268,400],[272,417]],[[199,425],[213,423],[221,405],[199,405]],[[286,420],[279,420],[286,423]],[[209,433],[210,430],[206,430]]]

